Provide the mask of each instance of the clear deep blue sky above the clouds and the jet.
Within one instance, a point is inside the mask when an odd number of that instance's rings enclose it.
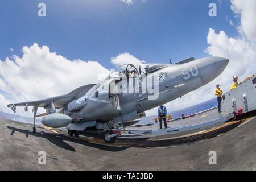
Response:
[[[46,17],[38,4],[46,4]],[[217,4],[217,17],[209,17],[209,3]],[[229,1],[119,0],[1,1],[0,60],[22,56],[23,46],[38,43],[69,60],[98,61],[113,68],[110,57],[129,52],[148,63],[176,62],[209,56],[207,35],[212,27],[236,36]],[[236,19],[232,19],[236,22]],[[10,51],[14,49],[14,52]]]

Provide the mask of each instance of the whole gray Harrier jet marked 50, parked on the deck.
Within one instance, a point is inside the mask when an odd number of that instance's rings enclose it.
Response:
[[[223,57],[189,58],[175,64],[145,64],[138,69],[125,64],[114,69],[98,84],[81,86],[64,96],[45,100],[9,104],[32,106],[35,117],[53,128],[66,126],[69,135],[100,131],[106,143],[113,143],[123,126],[133,125],[144,117],[144,111],[208,84],[219,76],[229,60]],[[36,115],[38,107],[46,113]],[[114,129],[114,130],[113,130]]]

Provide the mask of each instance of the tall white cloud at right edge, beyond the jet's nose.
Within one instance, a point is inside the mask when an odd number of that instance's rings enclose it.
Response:
[[[222,56],[230,60],[221,77],[224,85],[232,80],[233,75],[240,76],[242,81],[242,78],[255,73],[256,67],[256,1],[231,0],[231,3],[234,14],[241,17],[237,27],[240,35],[229,38],[224,31],[216,34],[210,28],[207,37],[210,46],[206,51],[212,56]]]

